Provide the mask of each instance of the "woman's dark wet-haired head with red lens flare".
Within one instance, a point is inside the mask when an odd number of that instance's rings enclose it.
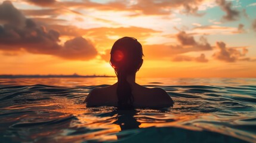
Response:
[[[143,63],[142,46],[135,38],[118,39],[112,46],[110,54],[110,64],[116,72],[135,73]]]

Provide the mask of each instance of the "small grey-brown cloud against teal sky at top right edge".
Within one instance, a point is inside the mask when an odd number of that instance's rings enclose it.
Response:
[[[217,4],[220,5],[226,15],[223,15],[223,20],[234,21],[239,17],[240,12],[232,9],[232,2],[226,2],[226,0],[216,0]]]

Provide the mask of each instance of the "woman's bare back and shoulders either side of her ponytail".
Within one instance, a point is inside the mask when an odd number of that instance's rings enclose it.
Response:
[[[134,97],[134,107],[161,108],[170,107],[174,103],[171,97],[161,88],[146,88],[137,83],[132,84],[131,88]],[[118,106],[116,89],[117,83],[104,88],[92,89],[85,102],[87,102],[88,106]]]

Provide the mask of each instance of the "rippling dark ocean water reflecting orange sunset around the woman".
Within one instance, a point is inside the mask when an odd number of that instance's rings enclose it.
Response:
[[[174,106],[86,107],[91,89],[115,82],[0,79],[0,142],[256,142],[256,79],[137,79]]]

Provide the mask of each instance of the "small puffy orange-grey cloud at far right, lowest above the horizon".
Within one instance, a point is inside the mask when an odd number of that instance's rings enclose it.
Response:
[[[216,48],[218,49],[212,57],[217,60],[226,61],[226,62],[235,62],[238,60],[245,60],[245,55],[248,52],[248,49],[245,47],[242,48],[242,51],[235,48],[227,48],[226,43],[217,42]],[[249,59],[249,58],[246,58]]]

